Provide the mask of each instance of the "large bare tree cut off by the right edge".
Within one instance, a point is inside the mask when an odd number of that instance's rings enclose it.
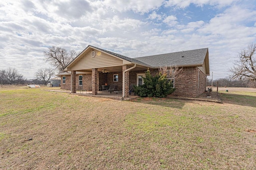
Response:
[[[232,73],[233,79],[242,80],[244,78],[255,82],[256,80],[256,44],[248,45],[246,49],[238,53],[238,60],[235,61],[234,66],[229,69]]]

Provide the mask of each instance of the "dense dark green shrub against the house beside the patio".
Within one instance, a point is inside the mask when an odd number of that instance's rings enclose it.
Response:
[[[146,77],[142,77],[144,84],[134,86],[134,92],[140,97],[157,97],[165,98],[175,91],[173,84],[161,73],[156,76],[150,74],[150,70],[146,71]]]

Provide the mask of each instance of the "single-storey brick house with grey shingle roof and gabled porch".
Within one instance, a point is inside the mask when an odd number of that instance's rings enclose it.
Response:
[[[84,89],[97,95],[99,87],[107,83],[117,85],[122,97],[128,97],[129,86],[142,84],[147,69],[154,76],[163,66],[182,67],[182,78],[173,78],[173,95],[195,98],[206,90],[208,48],[129,58],[89,45],[57,75],[61,76],[61,88],[72,93]]]

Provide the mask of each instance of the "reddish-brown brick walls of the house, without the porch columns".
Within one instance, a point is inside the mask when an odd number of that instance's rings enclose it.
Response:
[[[198,71],[199,71],[199,88],[198,88]],[[129,72],[129,86],[131,84],[136,85],[136,74],[145,73],[146,70],[140,71],[130,71]],[[150,70],[152,76],[158,74],[158,69]],[[118,74],[118,82],[113,81],[113,75]],[[189,96],[197,97],[206,90],[206,76],[197,67],[185,67],[183,68],[184,74],[183,78],[175,78],[174,86],[176,91],[172,94],[175,96]],[[92,88],[92,74],[82,74],[83,75],[83,89],[89,90]],[[104,85],[106,82],[108,85],[117,85],[117,90],[122,90],[122,72],[110,72],[110,73],[98,73],[98,83],[99,86]],[[66,83],[62,84],[61,79],[61,89],[70,90],[71,80],[70,76],[66,76]],[[76,75],[76,89],[78,89],[79,81],[78,75]]]

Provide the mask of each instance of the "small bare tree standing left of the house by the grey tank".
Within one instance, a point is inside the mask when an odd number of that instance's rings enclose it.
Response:
[[[35,76],[38,80],[42,81],[45,85],[47,82],[54,76],[53,68],[39,68],[35,73]]]

